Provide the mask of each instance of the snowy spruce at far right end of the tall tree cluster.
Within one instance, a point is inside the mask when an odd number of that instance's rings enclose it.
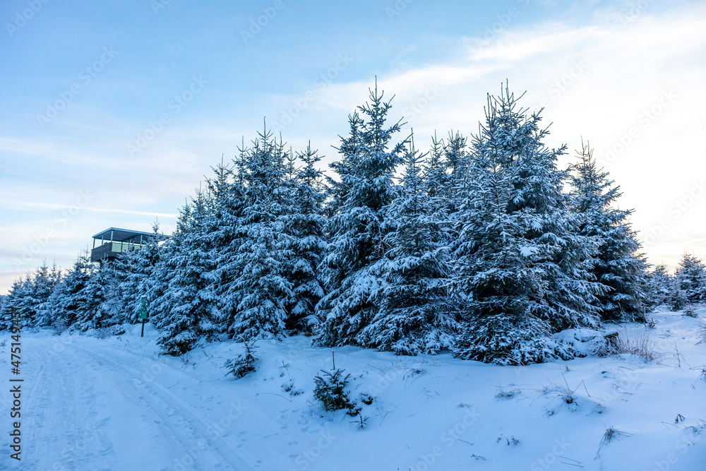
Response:
[[[614,186],[608,172],[597,168],[590,147],[582,143],[578,155],[571,181],[572,208],[580,217],[579,233],[599,241],[590,272],[609,287],[597,294],[594,305],[604,321],[645,321],[647,261],[638,252],[640,242],[628,222],[633,211],[614,207],[621,196],[620,186]]]

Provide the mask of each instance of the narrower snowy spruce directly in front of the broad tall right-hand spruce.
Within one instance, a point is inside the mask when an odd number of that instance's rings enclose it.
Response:
[[[539,248],[525,239],[532,211],[510,210],[520,165],[508,165],[508,149],[486,148],[480,136],[474,145],[454,246],[453,288],[464,320],[455,354],[501,364],[542,362],[552,329],[545,273],[532,260]]]

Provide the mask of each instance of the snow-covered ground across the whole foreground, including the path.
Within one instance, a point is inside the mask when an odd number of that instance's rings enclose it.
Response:
[[[9,458],[9,334],[0,336],[0,469],[704,470],[705,325],[679,313],[621,335],[657,354],[525,367],[256,343],[258,371],[224,376],[242,344],[162,357],[140,326],[107,339],[23,333],[22,461]],[[337,368],[364,419],[324,412]],[[361,395],[373,398],[370,405]]]

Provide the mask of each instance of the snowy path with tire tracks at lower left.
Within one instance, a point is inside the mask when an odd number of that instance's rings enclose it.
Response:
[[[28,367],[35,365],[25,379],[26,469],[253,469],[160,385],[174,371],[160,365],[164,374],[145,375],[129,366],[140,364],[139,355],[55,338],[27,337],[23,350],[31,355]]]

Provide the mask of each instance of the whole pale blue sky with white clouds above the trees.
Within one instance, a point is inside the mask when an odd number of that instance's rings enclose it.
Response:
[[[700,1],[57,1],[0,5],[0,293],[107,227],[165,233],[265,117],[331,147],[378,78],[418,147],[477,131],[508,79],[581,138],[652,263],[706,256]]]

